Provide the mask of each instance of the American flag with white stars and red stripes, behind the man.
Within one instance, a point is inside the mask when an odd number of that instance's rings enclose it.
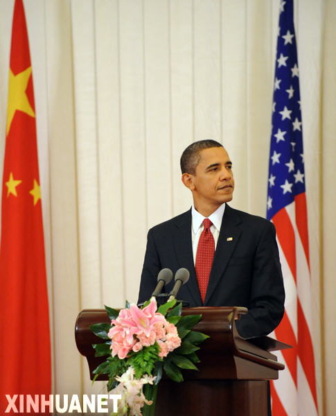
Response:
[[[286,292],[285,315],[273,335],[294,348],[278,354],[286,369],[271,385],[272,415],[312,416],[318,408],[293,0],[281,1],[273,97],[267,219],[276,227]]]

